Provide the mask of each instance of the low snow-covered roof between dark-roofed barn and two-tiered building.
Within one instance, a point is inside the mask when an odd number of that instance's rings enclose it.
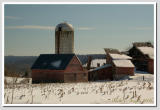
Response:
[[[97,63],[100,64],[100,66],[106,64],[106,59],[94,59],[91,61],[91,67],[97,67]],[[83,66],[87,66],[87,63],[85,63]]]

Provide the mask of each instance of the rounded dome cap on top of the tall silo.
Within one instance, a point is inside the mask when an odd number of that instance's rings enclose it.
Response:
[[[59,29],[61,29],[61,31],[74,31],[73,26],[66,22],[58,24],[55,31],[58,31]]]

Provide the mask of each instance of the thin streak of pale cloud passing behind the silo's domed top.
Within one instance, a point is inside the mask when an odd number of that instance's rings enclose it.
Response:
[[[38,29],[38,30],[54,30],[55,26],[43,26],[43,25],[21,25],[21,26],[5,26],[5,29]],[[76,27],[75,30],[90,31],[95,30],[92,27]]]

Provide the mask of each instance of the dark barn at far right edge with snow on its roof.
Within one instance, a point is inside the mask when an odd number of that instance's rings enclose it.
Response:
[[[133,47],[128,51],[136,70],[154,73],[154,48],[151,43],[133,43]]]

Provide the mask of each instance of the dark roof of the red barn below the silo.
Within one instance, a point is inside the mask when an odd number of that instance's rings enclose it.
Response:
[[[64,70],[75,54],[41,54],[31,69]]]

